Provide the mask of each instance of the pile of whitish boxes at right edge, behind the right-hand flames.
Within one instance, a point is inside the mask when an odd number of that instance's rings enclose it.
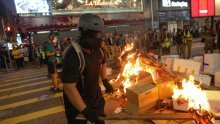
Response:
[[[205,54],[189,60],[178,59],[176,55],[166,55],[161,57],[161,62],[174,72],[193,75],[196,81],[207,86],[211,85],[214,76],[215,86],[220,87],[220,54]]]

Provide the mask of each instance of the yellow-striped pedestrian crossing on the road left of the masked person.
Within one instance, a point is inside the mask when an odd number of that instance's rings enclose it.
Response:
[[[49,90],[51,79],[46,74],[41,68],[0,75],[0,124],[32,124],[36,119],[44,124],[66,123],[62,93]],[[51,119],[54,114],[62,114],[62,121]]]

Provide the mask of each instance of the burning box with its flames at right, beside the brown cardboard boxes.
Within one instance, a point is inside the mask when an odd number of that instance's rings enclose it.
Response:
[[[172,99],[175,110],[211,111],[206,93],[201,90],[199,85],[195,85],[193,76],[189,76],[189,80],[184,79],[182,87],[174,86],[173,92]]]

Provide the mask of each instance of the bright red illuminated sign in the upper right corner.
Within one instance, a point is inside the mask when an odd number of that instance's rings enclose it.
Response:
[[[214,0],[191,0],[191,16],[207,17],[215,15]]]

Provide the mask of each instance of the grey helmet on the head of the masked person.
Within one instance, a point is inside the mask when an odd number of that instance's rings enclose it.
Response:
[[[92,30],[92,31],[104,31],[104,22],[103,20],[91,13],[82,14],[79,18],[79,28],[83,30]]]

